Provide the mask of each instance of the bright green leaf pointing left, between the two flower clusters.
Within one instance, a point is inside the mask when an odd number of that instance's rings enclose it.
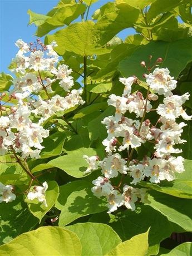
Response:
[[[88,167],[87,162],[83,159],[83,155],[97,155],[97,151],[92,148],[86,149],[82,147],[78,150],[68,151],[68,155],[57,157],[49,161],[48,164],[60,168],[75,178],[81,178],[86,176],[83,172]]]

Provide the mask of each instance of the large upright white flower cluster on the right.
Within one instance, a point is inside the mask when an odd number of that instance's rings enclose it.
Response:
[[[175,148],[177,144],[183,144],[181,133],[184,122],[179,124],[176,118],[181,116],[185,120],[190,120],[182,105],[189,99],[189,93],[178,96],[171,92],[176,87],[176,80],[169,75],[168,68],[155,68],[149,75],[145,75],[147,82],[146,98],[141,92],[131,93],[133,83],[139,83],[135,76],[120,78],[125,85],[122,96],[110,95],[108,104],[115,107],[115,115],[105,117],[102,124],[106,126],[107,138],[102,142],[105,146],[107,156],[99,161],[98,157],[84,156],[89,164],[85,173],[92,170],[101,169],[103,176],[93,180],[92,192],[96,196],[106,196],[108,200],[109,213],[118,207],[125,205],[127,209],[134,210],[135,202],[141,200],[146,202],[146,190],[133,188],[124,184],[124,176],[132,178],[131,184],[136,185],[141,180],[149,180],[151,183],[160,183],[161,180],[174,180],[175,173],[184,171],[183,157],[171,156],[178,154],[181,149]],[[152,91],[153,93],[150,93]],[[152,109],[152,102],[159,97],[154,94],[164,95],[164,104],[159,104],[156,109]],[[145,119],[146,113],[156,111],[160,116],[155,125],[149,119]],[[141,120],[128,118],[127,113],[135,113]],[[146,141],[154,144],[152,155],[138,156],[133,159],[134,150],[145,144]],[[126,150],[126,154],[124,153]],[[117,152],[119,151],[119,152]],[[128,155],[127,159],[119,154]],[[119,185],[111,184],[110,179],[121,174]]]

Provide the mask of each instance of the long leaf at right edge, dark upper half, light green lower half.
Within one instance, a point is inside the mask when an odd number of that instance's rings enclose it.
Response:
[[[171,195],[165,195],[156,191],[150,191],[150,206],[161,214],[165,215],[168,220],[178,224],[186,231],[191,231],[191,201],[190,199],[176,198]]]

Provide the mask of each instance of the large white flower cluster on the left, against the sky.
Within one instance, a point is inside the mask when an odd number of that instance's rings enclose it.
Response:
[[[82,91],[70,92],[73,86],[73,78],[70,76],[72,70],[66,65],[58,65],[58,55],[54,51],[57,46],[55,41],[45,46],[40,40],[30,45],[17,40],[16,46],[19,51],[11,67],[17,77],[13,80],[13,92],[9,99],[17,100],[18,104],[11,106],[7,116],[0,117],[0,155],[14,151],[21,153],[23,159],[39,158],[43,149],[43,138],[49,135],[49,130],[42,126],[43,121],[57,111],[83,104],[80,96]],[[49,72],[52,78],[42,76],[45,71]],[[65,97],[51,97],[48,94],[54,93],[51,85],[56,81],[67,93]],[[32,97],[42,90],[46,92],[47,100],[42,100],[41,96]],[[2,110],[3,105],[1,114]],[[31,117],[34,120],[34,115],[37,116],[36,122],[31,120]]]

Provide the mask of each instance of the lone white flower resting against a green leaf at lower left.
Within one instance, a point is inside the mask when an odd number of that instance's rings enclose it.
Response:
[[[43,186],[35,186],[33,188],[33,190],[35,190],[35,192],[29,192],[28,195],[27,195],[27,199],[28,200],[33,200],[33,199],[36,198],[38,201],[43,203],[43,205],[45,205],[45,207],[48,207],[47,201],[46,201],[46,194],[45,194],[47,189],[48,189],[48,185],[45,181],[43,183]]]

